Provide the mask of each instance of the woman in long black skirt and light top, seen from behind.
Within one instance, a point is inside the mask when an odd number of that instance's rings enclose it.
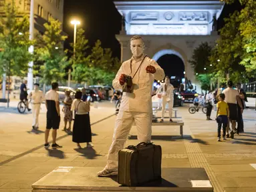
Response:
[[[89,119],[90,101],[82,101],[82,92],[76,91],[75,99],[72,103],[71,110],[75,111],[75,120],[73,127],[72,141],[77,143],[78,148],[82,148],[80,143],[87,143],[87,147],[93,147],[92,131]]]

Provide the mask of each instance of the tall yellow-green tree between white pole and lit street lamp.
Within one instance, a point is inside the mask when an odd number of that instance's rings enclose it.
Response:
[[[43,63],[39,69],[41,82],[49,85],[53,81],[62,81],[66,74],[68,57],[61,47],[67,37],[61,35],[61,23],[58,20],[50,18],[49,23],[45,23],[44,27],[45,33],[41,37],[42,45],[38,45],[39,48],[35,52],[38,60]]]

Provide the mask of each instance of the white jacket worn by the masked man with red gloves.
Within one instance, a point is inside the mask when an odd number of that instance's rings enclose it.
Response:
[[[130,65],[131,61],[132,65]],[[119,83],[120,75],[124,73],[133,77],[140,66],[141,61],[142,59],[135,61],[131,58],[122,63],[122,66],[116,74],[116,78],[113,80],[114,89],[122,89],[122,85]],[[156,68],[156,73],[146,73],[146,67],[148,67],[148,65],[154,66]],[[152,85],[154,79],[162,80],[164,79],[164,76],[164,70],[156,63],[156,61],[146,57],[140,69],[134,76],[134,79],[132,79],[132,83],[135,84],[133,92],[135,97],[128,97],[126,93],[123,93],[119,111],[152,112]]]

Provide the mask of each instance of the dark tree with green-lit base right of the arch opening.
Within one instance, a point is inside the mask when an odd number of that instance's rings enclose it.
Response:
[[[211,87],[211,79],[213,78],[213,67],[210,64],[209,57],[212,47],[207,43],[201,43],[193,51],[193,56],[188,61],[196,75],[197,80],[201,83],[201,89],[208,91]]]

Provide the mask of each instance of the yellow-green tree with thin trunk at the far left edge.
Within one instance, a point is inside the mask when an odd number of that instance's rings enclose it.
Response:
[[[33,59],[28,51],[33,44],[33,41],[29,41],[29,19],[27,15],[18,13],[17,9],[14,0],[5,4],[5,17],[0,19],[0,75],[5,73],[9,83],[12,75],[24,77],[29,68],[28,63]]]

